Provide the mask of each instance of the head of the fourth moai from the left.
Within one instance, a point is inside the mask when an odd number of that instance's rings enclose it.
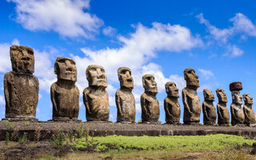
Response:
[[[118,68],[118,79],[121,88],[134,89],[134,78],[131,77],[130,68],[120,67]]]

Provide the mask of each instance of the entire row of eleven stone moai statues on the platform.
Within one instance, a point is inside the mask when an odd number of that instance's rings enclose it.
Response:
[[[35,118],[38,104],[39,83],[34,73],[34,51],[26,46],[11,46],[10,60],[12,71],[5,74],[4,94],[6,98],[6,120],[10,121],[38,121]],[[53,121],[79,121],[79,90],[75,86],[77,69],[71,58],[58,57],[54,63],[54,74],[57,82],[50,87],[50,98],[53,103]],[[186,87],[182,90],[184,105],[184,124],[198,124],[200,122],[201,104],[197,89],[199,87],[198,75],[193,69],[184,70]],[[86,79],[89,86],[83,90],[83,102],[86,106],[86,120],[88,122],[107,122],[110,108],[106,91],[107,80],[102,66],[90,65],[86,69]],[[132,90],[134,80],[131,70],[127,67],[118,69],[120,89],[115,94],[118,109],[117,122],[135,121],[135,100]],[[154,76],[146,74],[142,77],[145,92],[141,95],[142,122],[158,122],[160,109],[156,98],[158,94],[157,83]],[[243,94],[245,105],[242,107],[241,82],[230,84],[232,104],[230,113],[226,106],[227,98],[224,90],[216,90],[218,96],[217,114],[218,125],[254,124],[255,114],[252,109],[253,98]],[[166,123],[178,124],[181,109],[178,103],[179,93],[174,82],[166,83],[167,97],[164,100]],[[205,101],[202,102],[203,122],[206,125],[216,123],[216,109],[214,107],[214,94],[210,90],[203,90]]]

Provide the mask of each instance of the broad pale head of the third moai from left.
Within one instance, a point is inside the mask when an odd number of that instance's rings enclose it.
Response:
[[[86,69],[86,78],[89,86],[101,86],[106,88],[106,73],[102,66],[90,65]]]

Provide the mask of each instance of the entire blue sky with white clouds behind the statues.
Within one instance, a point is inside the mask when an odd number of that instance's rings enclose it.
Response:
[[[110,121],[116,121],[117,70],[128,66],[134,77],[136,121],[141,118],[142,75],[154,74],[158,83],[160,118],[166,82],[186,86],[183,70],[194,68],[203,89],[222,88],[231,103],[230,82],[241,81],[241,94],[256,98],[255,1],[95,1],[2,0],[0,5],[0,81],[11,70],[10,46],[34,49],[35,73],[40,83],[37,118],[52,116],[50,85],[56,81],[54,61],[74,58],[80,90],[79,117],[86,120],[82,90],[88,86],[86,67],[105,68],[110,95]],[[0,118],[5,116],[3,83]],[[179,98],[183,111],[182,98]],[[216,106],[216,103],[214,103]],[[254,108],[255,109],[255,108]],[[202,117],[202,115],[201,115]],[[202,118],[201,118],[202,119]],[[181,117],[182,122],[182,117]]]

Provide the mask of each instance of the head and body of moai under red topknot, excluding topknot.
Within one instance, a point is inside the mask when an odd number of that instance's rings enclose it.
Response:
[[[232,103],[230,105],[231,124],[241,125],[245,120],[245,114],[242,110],[242,96],[238,90],[232,92]]]

